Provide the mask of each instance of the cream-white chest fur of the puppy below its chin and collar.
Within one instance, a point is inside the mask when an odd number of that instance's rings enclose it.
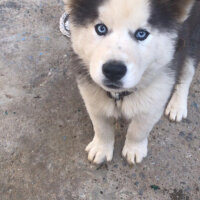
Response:
[[[131,119],[141,113],[163,112],[174,85],[174,77],[161,74],[147,87],[138,89],[123,100],[114,101],[95,85],[79,83],[79,89],[88,110],[107,117],[124,116]]]

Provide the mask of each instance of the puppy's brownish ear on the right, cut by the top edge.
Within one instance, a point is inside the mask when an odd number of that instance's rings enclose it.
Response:
[[[174,16],[179,23],[183,23],[190,14],[196,0],[170,0]]]

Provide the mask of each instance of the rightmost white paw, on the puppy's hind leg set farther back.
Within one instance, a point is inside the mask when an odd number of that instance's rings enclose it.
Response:
[[[170,99],[165,115],[172,121],[180,122],[187,117],[187,97],[181,97],[175,92]]]

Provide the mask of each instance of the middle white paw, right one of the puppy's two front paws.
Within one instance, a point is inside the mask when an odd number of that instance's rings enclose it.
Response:
[[[126,142],[122,155],[126,158],[130,165],[142,162],[143,158],[147,156],[147,144],[148,141],[145,139],[141,143],[129,143]]]

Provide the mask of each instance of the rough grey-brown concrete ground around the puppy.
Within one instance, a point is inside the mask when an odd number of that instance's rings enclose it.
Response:
[[[122,159],[118,122],[113,161],[91,165],[93,130],[68,71],[62,13],[61,0],[0,0],[0,200],[199,200],[200,70],[188,119],[163,117],[141,164]]]

